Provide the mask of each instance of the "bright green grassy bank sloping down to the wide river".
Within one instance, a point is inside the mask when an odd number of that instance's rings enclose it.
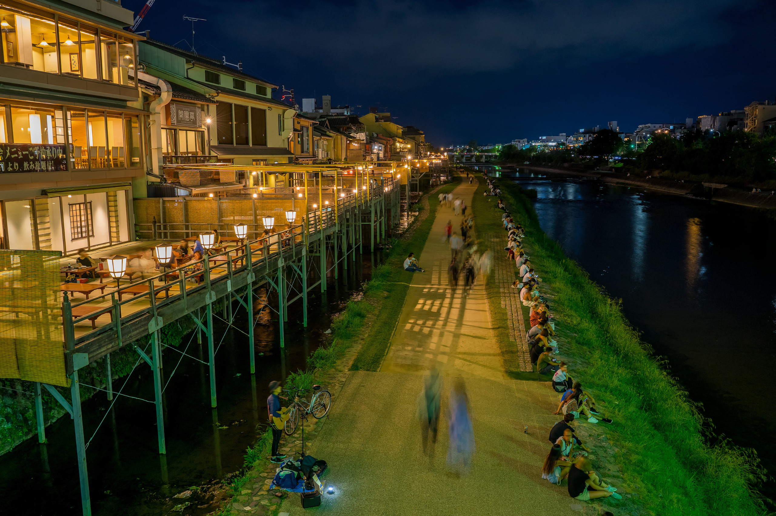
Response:
[[[706,444],[695,404],[640,341],[618,303],[544,234],[520,188],[499,184],[512,215],[526,228],[535,268],[553,286],[556,317],[573,332],[570,355],[584,358],[574,376],[615,419],[607,433],[618,445],[624,479],[644,505],[660,516],[764,514],[750,490],[762,480],[755,462],[743,450]],[[478,216],[480,231],[493,223],[487,214]],[[498,304],[494,311],[504,310]],[[494,320],[498,327],[504,322]]]

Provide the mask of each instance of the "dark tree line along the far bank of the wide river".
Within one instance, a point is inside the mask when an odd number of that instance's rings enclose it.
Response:
[[[726,184],[776,187],[776,136],[743,131],[721,135],[695,130],[679,138],[655,134],[645,144],[623,141],[611,130],[601,130],[580,147],[539,151],[504,145],[499,160],[511,163],[600,165],[622,164],[622,171],[665,178]]]

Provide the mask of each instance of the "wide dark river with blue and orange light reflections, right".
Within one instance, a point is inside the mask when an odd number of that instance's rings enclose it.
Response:
[[[542,229],[622,299],[717,435],[776,460],[767,431],[776,412],[764,403],[776,366],[776,221],[746,206],[594,179],[500,175],[536,189]]]

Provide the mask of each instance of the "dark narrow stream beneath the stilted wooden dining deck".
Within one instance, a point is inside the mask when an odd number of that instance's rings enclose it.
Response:
[[[302,324],[301,300],[289,306],[285,350],[279,347],[277,314],[262,311],[255,326],[255,376],[250,374],[247,336],[219,324],[213,317],[216,342],[222,341],[216,355],[216,409],[210,407],[208,366],[193,359],[207,361],[206,339],[197,345],[193,334],[184,338],[182,348],[189,343],[185,352],[193,358],[182,357],[171,348],[165,350],[162,385],[167,385],[167,455],[158,453],[154,404],[142,401],[154,399],[151,371],[147,367],[139,367],[123,389],[124,394],[142,400],[122,397],[110,411],[105,393],[98,391],[86,400],[86,440],[94,434],[87,449],[92,514],[179,514],[170,510],[185,500],[171,496],[239,470],[245,449],[255,443],[257,425],[267,421],[268,383],[306,368],[307,356],[320,345],[324,331],[331,325],[331,315],[343,310],[348,299],[359,293],[362,283],[369,281],[372,268],[382,259],[379,251],[374,255],[357,254],[356,258],[355,264],[348,263],[347,272],[340,269],[339,279],[335,280],[330,273],[327,293],[310,293],[307,328]],[[244,310],[234,325],[246,330],[248,317]],[[124,382],[125,378],[114,380],[114,390],[120,390]],[[47,427],[46,435],[47,445],[39,445],[33,438],[0,456],[0,513],[81,514],[71,419],[61,417]],[[183,514],[210,511],[213,507],[192,506]]]

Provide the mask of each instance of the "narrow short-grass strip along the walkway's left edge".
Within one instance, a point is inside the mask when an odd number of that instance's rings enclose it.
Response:
[[[399,320],[404,299],[407,297],[407,290],[410,288],[409,284],[414,274],[405,271],[402,267],[404,258],[407,258],[408,253],[414,252],[417,260],[421,264],[423,263],[421,252],[439,208],[438,194],[452,192],[458,185],[460,185],[460,180],[456,178],[452,183],[442,186],[433,196],[429,197],[428,216],[415,228],[411,237],[397,242],[391,251],[390,258],[376,268],[372,274],[372,281],[366,286],[366,295],[376,295],[383,291],[387,294],[380,305],[379,313],[377,313],[372,327],[369,328],[364,345],[351,366],[352,370],[376,371],[379,369],[388,345],[390,345],[393,328],[396,327],[397,320]]]

